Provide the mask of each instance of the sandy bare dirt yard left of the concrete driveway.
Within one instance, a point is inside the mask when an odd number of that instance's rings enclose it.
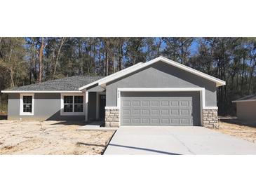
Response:
[[[61,121],[0,121],[0,154],[102,154],[114,131]]]

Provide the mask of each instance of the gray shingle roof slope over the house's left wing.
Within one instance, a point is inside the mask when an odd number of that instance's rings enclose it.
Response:
[[[83,85],[93,83],[104,76],[70,76],[66,78],[59,78],[51,81],[45,81],[43,83],[36,83],[31,85],[25,85],[18,88],[12,88],[8,90],[79,90]]]

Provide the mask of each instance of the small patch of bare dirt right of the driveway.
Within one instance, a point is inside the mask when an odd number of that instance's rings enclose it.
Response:
[[[256,143],[256,123],[239,121],[236,118],[220,118],[219,132]]]

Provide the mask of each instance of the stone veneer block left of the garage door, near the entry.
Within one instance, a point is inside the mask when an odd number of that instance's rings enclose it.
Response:
[[[105,109],[105,127],[119,127],[119,109]]]

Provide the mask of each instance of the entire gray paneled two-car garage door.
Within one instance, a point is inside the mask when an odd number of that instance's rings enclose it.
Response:
[[[121,125],[200,125],[198,92],[121,92]]]

